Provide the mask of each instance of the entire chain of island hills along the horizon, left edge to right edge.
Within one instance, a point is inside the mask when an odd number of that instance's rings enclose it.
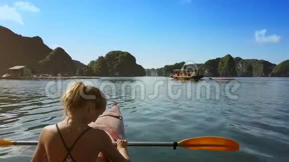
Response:
[[[57,76],[168,76],[174,69],[186,68],[184,62],[158,69],[146,69],[136,63],[128,52],[111,51],[88,65],[72,60],[64,49],[47,47],[39,36],[23,37],[0,26],[0,75],[14,66],[27,66],[41,74]],[[186,65],[188,66],[188,65]],[[196,64],[200,75],[206,77],[289,77],[289,60],[279,65],[265,60],[233,58],[226,55]]]

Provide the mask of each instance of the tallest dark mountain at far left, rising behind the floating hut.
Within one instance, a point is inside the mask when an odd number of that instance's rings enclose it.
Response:
[[[23,37],[0,26],[0,74],[17,65],[37,68],[38,62],[51,51],[38,36]]]

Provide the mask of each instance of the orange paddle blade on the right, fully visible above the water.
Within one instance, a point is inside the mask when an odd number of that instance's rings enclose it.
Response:
[[[210,151],[238,151],[239,144],[231,139],[223,137],[196,137],[182,140],[178,146],[189,150],[210,150]]]

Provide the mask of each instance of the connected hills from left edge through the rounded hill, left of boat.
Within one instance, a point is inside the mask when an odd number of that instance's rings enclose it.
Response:
[[[128,52],[111,51],[84,65],[72,60],[64,49],[50,49],[43,40],[36,37],[23,37],[8,28],[0,26],[0,75],[8,73],[14,66],[27,66],[40,70],[41,74],[57,76],[144,76],[141,65]]]

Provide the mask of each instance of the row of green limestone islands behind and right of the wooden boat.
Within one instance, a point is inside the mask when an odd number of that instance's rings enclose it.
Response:
[[[166,65],[156,69],[158,76],[168,76],[173,69],[180,69],[184,62]],[[265,60],[233,58],[226,55],[196,64],[201,75],[205,77],[288,77],[289,60],[276,66]],[[149,71],[146,70],[147,74]]]

